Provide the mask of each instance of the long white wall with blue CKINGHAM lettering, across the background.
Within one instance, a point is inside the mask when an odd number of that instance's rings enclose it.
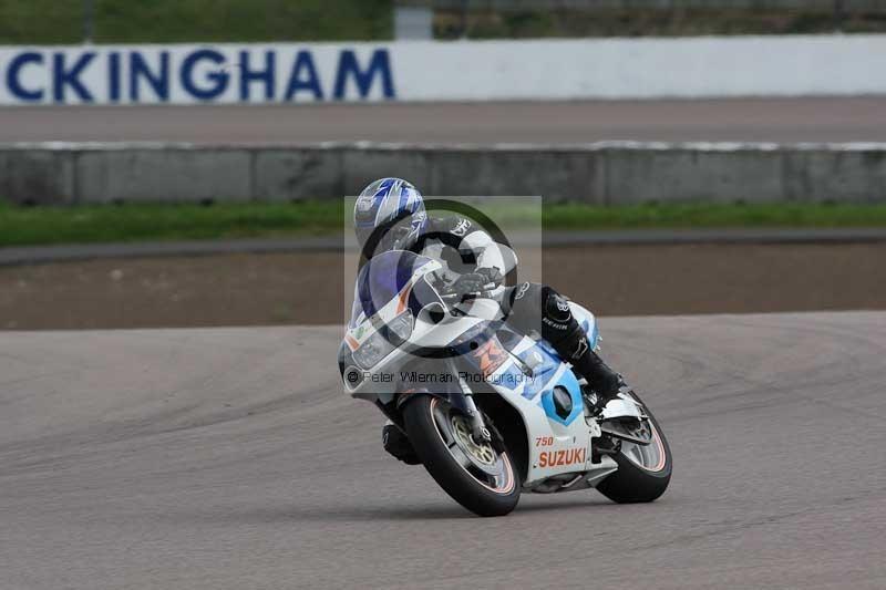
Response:
[[[886,94],[886,35],[0,48],[0,104]]]

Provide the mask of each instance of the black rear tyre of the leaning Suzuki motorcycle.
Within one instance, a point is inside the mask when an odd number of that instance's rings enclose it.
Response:
[[[597,489],[610,500],[619,504],[656,500],[664,494],[671,480],[671,447],[668,445],[668,439],[642,400],[636,393],[630,393],[646,408],[655,435],[651,444],[658,445],[656,451],[660,452],[663,457],[656,465],[641,466],[636,460],[631,460],[624,451],[611,455],[618,463],[618,470],[600,482]],[[622,448],[626,444],[632,443],[622,443]]]

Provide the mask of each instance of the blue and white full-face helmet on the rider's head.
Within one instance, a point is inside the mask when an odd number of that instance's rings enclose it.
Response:
[[[408,217],[411,218],[409,222],[399,224]],[[399,242],[414,239],[424,229],[426,220],[422,194],[402,178],[380,178],[371,183],[353,206],[353,228],[361,248],[365,247],[377,228],[381,228],[375,235],[380,241],[394,225],[405,228],[398,237]]]

